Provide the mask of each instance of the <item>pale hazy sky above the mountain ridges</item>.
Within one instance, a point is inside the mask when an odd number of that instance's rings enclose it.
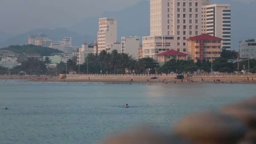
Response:
[[[140,1],[142,0],[0,0],[0,30],[18,34],[37,28],[71,27],[87,17],[99,16],[104,11],[122,10]],[[250,3],[256,6],[255,1],[211,0],[211,3]]]

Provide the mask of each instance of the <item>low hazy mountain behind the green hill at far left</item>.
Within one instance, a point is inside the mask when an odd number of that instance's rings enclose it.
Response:
[[[7,40],[0,42],[0,48],[7,47],[9,45],[26,45],[28,44],[28,37],[30,35],[44,33],[51,40],[62,40],[63,37],[72,37],[72,44],[74,46],[80,46],[85,42],[85,35],[77,34],[71,32],[68,29],[59,28],[59,29],[35,29],[24,34],[15,35],[9,37]],[[90,38],[90,36],[88,36]]]

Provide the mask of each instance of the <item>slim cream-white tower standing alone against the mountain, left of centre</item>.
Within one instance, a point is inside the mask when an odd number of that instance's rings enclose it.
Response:
[[[98,31],[98,53],[105,50],[108,45],[117,42],[117,21],[115,18],[100,18]]]

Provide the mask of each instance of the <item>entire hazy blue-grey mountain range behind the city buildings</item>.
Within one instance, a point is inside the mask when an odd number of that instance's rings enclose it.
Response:
[[[255,21],[256,2],[246,0],[211,0],[211,3],[231,3],[232,9],[232,49],[238,49],[238,42],[248,38],[256,38]],[[24,34],[8,35],[0,31],[0,48],[8,45],[27,44],[29,35],[45,33],[52,40],[61,40],[63,37],[72,37],[73,45],[80,46],[85,42],[97,40],[99,17],[117,18],[118,38],[122,36],[149,35],[149,1],[144,0],[132,7],[121,11],[109,11],[100,16],[84,19],[69,28],[35,29]]]

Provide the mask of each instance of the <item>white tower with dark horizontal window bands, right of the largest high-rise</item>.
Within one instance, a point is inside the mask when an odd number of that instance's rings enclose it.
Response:
[[[222,49],[231,48],[231,9],[229,4],[202,7],[202,33],[221,37]]]

